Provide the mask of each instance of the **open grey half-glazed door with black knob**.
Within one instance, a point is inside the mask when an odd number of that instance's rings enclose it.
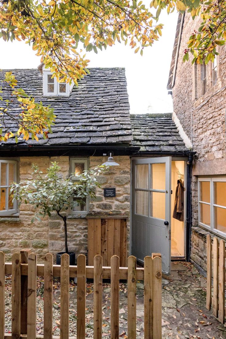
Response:
[[[133,160],[132,255],[141,262],[162,254],[162,270],[170,273],[171,157]]]

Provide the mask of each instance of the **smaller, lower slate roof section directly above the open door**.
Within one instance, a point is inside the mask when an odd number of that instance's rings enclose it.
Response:
[[[140,146],[140,152],[188,152],[172,114],[130,115],[132,145]]]

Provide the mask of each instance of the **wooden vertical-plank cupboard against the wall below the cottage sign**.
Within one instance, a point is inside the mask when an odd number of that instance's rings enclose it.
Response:
[[[127,266],[127,219],[88,218],[88,264],[93,266],[95,255],[103,258],[103,266],[110,266],[113,255],[120,258],[120,267]]]

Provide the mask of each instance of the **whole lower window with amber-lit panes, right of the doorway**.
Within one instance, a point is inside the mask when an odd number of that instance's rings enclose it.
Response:
[[[198,178],[199,225],[226,238],[226,177]]]

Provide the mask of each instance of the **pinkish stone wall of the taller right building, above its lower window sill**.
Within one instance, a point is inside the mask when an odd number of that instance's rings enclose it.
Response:
[[[198,224],[198,175],[226,174],[225,108],[226,108],[226,47],[219,49],[218,80],[212,86],[211,67],[207,65],[207,92],[200,89],[200,65],[183,63],[184,50],[199,19],[185,14],[175,84],[172,88],[173,109],[197,152],[192,171],[193,225]]]

